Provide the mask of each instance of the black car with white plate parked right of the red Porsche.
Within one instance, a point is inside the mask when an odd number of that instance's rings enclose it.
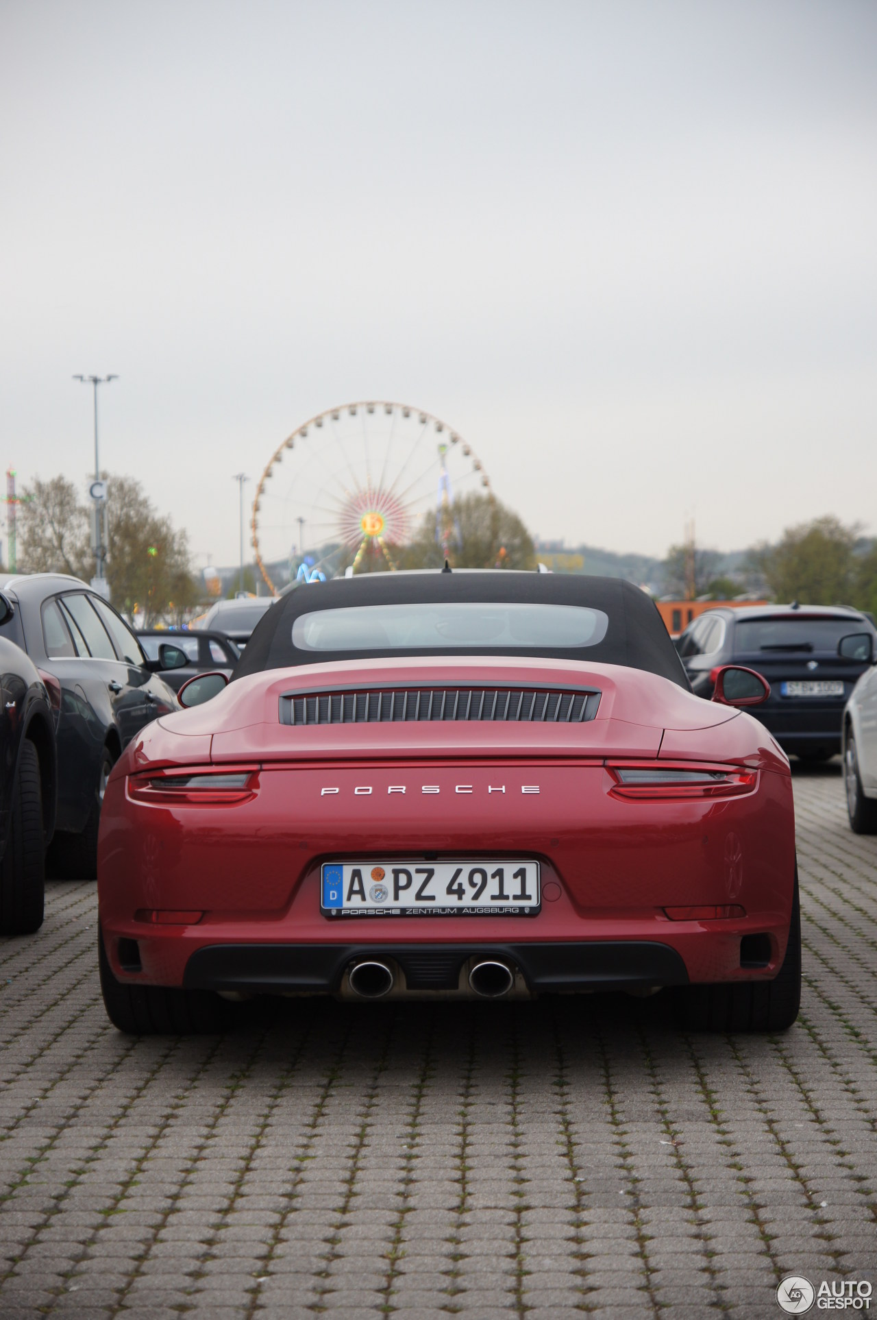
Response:
[[[720,607],[690,623],[677,649],[694,692],[707,700],[723,664],[757,669],[770,684],[761,723],[783,751],[827,760],[840,751],[844,706],[877,655],[877,630],[845,607]]]

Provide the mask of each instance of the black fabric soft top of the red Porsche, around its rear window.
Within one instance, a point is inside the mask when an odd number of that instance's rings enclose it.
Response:
[[[601,610],[609,619],[603,640],[588,647],[466,645],[447,655],[526,655],[559,660],[586,660],[628,665],[669,678],[690,690],[688,678],[654,602],[622,578],[560,576],[551,573],[456,572],[456,573],[364,573],[331,582],[302,582],[272,606],[256,624],[247,649],[232,673],[243,678],[265,669],[315,664],[327,660],[369,660],[388,655],[435,655],[435,649],[305,651],[293,644],[293,623],[314,610],[369,605],[419,605],[425,602],[499,605],[571,605]]]

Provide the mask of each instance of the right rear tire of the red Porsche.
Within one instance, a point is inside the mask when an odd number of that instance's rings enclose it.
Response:
[[[686,1031],[787,1031],[801,1007],[801,904],[798,873],[786,956],[773,981],[680,986],[677,1019]]]

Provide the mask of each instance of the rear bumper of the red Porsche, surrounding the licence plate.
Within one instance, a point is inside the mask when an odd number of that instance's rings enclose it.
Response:
[[[794,887],[787,774],[761,771],[757,789],[727,801],[671,803],[613,796],[601,763],[326,774],[264,770],[252,797],[212,808],[142,804],[115,775],[98,865],[113,973],[141,985],[335,993],[353,958],[385,954],[406,982],[440,989],[456,985],[468,960],[500,957],[537,991],[770,979],[782,962]],[[339,791],[322,795],[324,781]],[[405,795],[388,791],[405,781]],[[522,781],[539,792],[521,792]],[[442,792],[415,792],[421,783]],[[361,784],[368,795],[356,793]],[[320,863],[369,857],[529,857],[541,867],[542,908],[518,917],[323,913]],[[666,915],[702,904],[739,915]],[[193,924],[161,924],[174,912]],[[748,936],[762,948],[766,937],[760,965],[742,957]]]

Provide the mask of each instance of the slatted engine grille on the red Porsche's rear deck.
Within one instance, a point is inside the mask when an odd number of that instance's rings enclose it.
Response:
[[[582,688],[363,688],[280,698],[281,725],[512,722],[576,725],[593,719],[599,692]]]

